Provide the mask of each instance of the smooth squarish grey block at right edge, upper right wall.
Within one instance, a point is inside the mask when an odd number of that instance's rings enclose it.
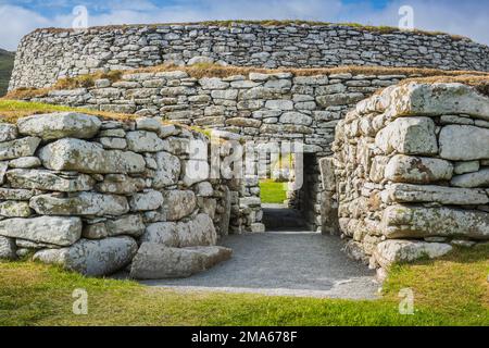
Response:
[[[448,125],[440,132],[440,157],[452,161],[489,159],[489,129]]]

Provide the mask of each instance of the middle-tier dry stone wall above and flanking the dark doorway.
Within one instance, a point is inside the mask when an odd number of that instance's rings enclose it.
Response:
[[[388,70],[378,75],[250,73],[203,78],[183,71],[138,73],[123,75],[118,82],[99,79],[90,88],[52,90],[32,100],[225,130],[253,141],[256,152],[269,144],[301,141],[304,152],[313,154],[304,167],[303,210],[310,229],[325,232],[330,228],[325,227],[322,204],[326,194],[317,159],[333,154],[335,126],[356,102],[408,77],[389,75]],[[241,217],[231,220],[231,233],[263,228],[258,179],[249,177],[241,198],[234,197],[246,208],[236,212]]]

